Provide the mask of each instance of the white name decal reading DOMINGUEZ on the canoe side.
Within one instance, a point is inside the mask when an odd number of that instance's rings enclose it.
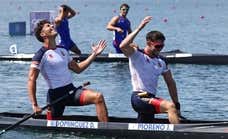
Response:
[[[48,127],[67,127],[67,128],[98,128],[97,122],[85,121],[62,121],[62,120],[48,120]]]

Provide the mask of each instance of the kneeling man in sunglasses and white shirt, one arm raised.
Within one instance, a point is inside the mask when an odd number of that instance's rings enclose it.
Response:
[[[131,103],[138,112],[138,122],[152,122],[154,114],[168,113],[170,123],[179,123],[180,103],[176,83],[165,61],[159,57],[164,47],[165,36],[159,31],[150,31],[146,36],[146,47],[139,50],[133,42],[136,35],[150,22],[145,17],[140,25],[120,44],[120,49],[129,58],[133,93]],[[172,101],[156,97],[158,78],[162,75]]]

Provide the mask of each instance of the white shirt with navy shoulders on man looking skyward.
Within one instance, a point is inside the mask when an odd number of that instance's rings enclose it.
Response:
[[[55,89],[72,83],[72,75],[68,63],[72,60],[69,53],[63,48],[47,50],[42,47],[36,52],[31,67],[40,70],[50,89]]]

